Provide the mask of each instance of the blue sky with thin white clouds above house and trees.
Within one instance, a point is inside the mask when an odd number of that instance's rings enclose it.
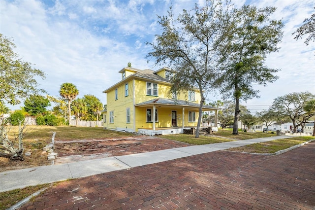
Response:
[[[173,9],[191,9],[204,0],[173,0]],[[267,87],[257,86],[260,98],[242,102],[254,113],[267,109],[276,97],[292,92],[315,94],[315,43],[291,35],[315,12],[314,0],[232,0],[235,6],[275,6],[272,18],[282,19],[284,37],[279,52],[268,56],[266,65],[281,69],[279,79]],[[12,37],[24,61],[46,73],[40,88],[59,96],[64,82],[75,84],[78,98],[102,93],[121,79],[119,70],[131,62],[137,69],[158,70],[145,56],[160,34],[157,15],[166,15],[170,0],[0,0],[0,33]],[[220,100],[218,93],[207,101]],[[12,106],[11,109],[19,108]]]

